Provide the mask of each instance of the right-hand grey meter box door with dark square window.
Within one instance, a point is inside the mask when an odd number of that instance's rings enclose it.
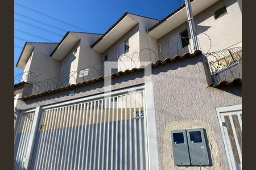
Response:
[[[203,128],[187,129],[188,147],[192,165],[209,165]]]

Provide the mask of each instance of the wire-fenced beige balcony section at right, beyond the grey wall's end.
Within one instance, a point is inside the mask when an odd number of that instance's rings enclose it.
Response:
[[[213,84],[230,83],[242,79],[242,47],[234,47],[205,54]]]

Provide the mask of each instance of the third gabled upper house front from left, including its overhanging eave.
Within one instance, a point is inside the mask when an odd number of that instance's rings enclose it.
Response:
[[[157,22],[157,19],[125,12],[91,48],[102,54],[103,61],[117,61],[118,71],[139,67],[135,62],[154,62],[157,56],[151,54],[150,49],[157,49],[157,43],[147,36],[146,29]]]

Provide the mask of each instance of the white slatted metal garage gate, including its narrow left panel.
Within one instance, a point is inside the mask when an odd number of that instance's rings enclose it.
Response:
[[[30,169],[148,169],[144,96],[140,90],[43,109]],[[23,169],[33,121],[26,115],[15,143],[15,169]]]

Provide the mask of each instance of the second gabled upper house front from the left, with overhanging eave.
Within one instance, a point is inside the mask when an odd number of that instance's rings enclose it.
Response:
[[[94,71],[92,67],[102,64],[101,54],[90,48],[90,45],[100,36],[101,34],[86,32],[67,32],[65,34],[51,53],[51,58],[60,62],[58,78],[62,86],[90,79],[90,75]],[[87,75],[79,74],[80,71],[86,69],[89,72]]]

